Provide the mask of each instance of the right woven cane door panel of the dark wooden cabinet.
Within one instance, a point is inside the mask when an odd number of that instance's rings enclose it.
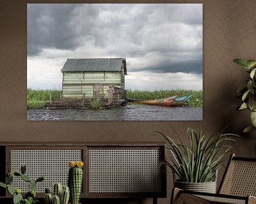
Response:
[[[90,193],[161,192],[159,149],[90,149]]]

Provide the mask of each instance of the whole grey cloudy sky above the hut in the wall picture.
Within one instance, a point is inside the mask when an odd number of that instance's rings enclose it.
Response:
[[[28,4],[27,86],[61,89],[68,58],[127,59],[126,89],[203,89],[202,4]]]

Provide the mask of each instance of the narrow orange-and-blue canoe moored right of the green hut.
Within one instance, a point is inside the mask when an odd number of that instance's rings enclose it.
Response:
[[[185,101],[188,101],[190,96],[170,96],[168,98],[152,99],[152,100],[143,100],[143,99],[133,99],[127,98],[127,102],[137,102],[146,105],[159,105],[159,106],[183,106]]]

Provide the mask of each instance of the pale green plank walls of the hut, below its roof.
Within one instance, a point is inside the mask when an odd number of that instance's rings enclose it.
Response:
[[[111,87],[124,89],[124,72],[63,72],[63,98],[113,98]]]

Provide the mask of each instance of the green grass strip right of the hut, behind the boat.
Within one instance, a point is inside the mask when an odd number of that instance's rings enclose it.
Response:
[[[139,90],[127,90],[127,98],[134,99],[158,99],[167,98],[169,96],[189,96],[192,97],[186,101],[184,106],[189,107],[202,107],[203,106],[203,91],[192,90],[161,90],[161,91],[139,91]]]

